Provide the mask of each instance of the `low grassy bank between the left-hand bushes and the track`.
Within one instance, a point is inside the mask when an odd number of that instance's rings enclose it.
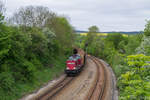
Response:
[[[12,83],[11,90],[0,89],[0,100],[17,100],[22,96],[32,93],[35,89],[39,89],[42,85],[56,78],[64,71],[66,58],[57,57],[53,60],[53,64],[42,70],[35,72],[34,82],[15,82]],[[10,73],[8,73],[10,74]],[[7,75],[8,78],[9,75]],[[3,79],[2,79],[3,80]],[[11,78],[11,80],[14,80]]]

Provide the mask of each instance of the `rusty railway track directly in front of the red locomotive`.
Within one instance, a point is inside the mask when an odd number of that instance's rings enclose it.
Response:
[[[47,91],[45,94],[41,95],[36,100],[51,100],[54,96],[56,96],[65,86],[67,86],[74,78],[73,77],[65,77],[62,81],[57,83],[53,88]]]

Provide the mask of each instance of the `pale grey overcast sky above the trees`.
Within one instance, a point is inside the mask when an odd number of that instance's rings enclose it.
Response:
[[[70,18],[76,30],[97,25],[100,31],[142,31],[150,19],[150,0],[2,0],[7,15],[28,5],[42,5]]]

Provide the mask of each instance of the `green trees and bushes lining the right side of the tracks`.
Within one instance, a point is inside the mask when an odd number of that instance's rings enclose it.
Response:
[[[120,33],[97,36],[97,26],[88,35],[76,36],[76,44],[87,46],[87,53],[105,60],[113,68],[118,82],[119,100],[150,98],[150,21],[144,33],[123,36]]]

